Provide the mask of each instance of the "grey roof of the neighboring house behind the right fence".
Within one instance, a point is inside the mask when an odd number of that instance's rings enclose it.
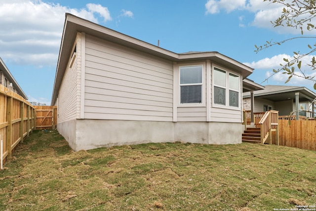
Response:
[[[294,99],[299,92],[299,101],[310,101],[316,98],[316,93],[304,86],[266,85],[262,90],[254,91],[254,97],[260,97],[271,101]],[[250,97],[250,92],[243,93],[243,98]]]

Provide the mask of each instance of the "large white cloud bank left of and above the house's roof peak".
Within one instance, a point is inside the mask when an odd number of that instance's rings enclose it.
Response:
[[[1,57],[20,65],[55,66],[66,12],[95,23],[111,20],[100,4],[76,9],[41,0],[0,1]]]

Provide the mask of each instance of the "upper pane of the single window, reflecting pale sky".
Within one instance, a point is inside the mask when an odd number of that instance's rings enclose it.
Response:
[[[202,66],[180,67],[180,84],[201,84]]]

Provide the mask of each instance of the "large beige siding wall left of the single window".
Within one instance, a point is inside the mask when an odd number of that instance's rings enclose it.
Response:
[[[85,119],[172,121],[173,63],[86,36]]]

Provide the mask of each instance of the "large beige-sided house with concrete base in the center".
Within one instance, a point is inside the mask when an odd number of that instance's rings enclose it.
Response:
[[[252,72],[218,52],[178,54],[66,14],[51,104],[75,151],[241,143],[243,84],[261,88],[243,82]]]

